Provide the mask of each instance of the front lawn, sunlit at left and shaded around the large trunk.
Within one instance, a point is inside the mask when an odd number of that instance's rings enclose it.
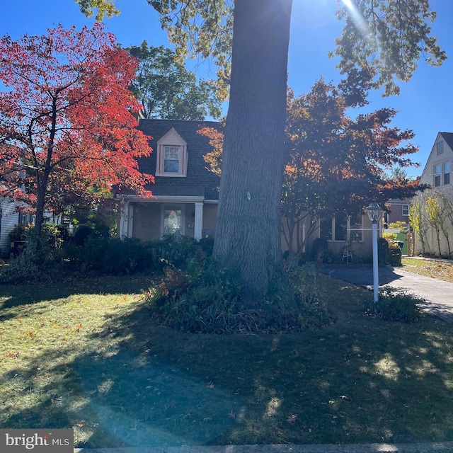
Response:
[[[452,326],[379,321],[321,275],[336,322],[205,336],[149,323],[143,277],[0,286],[0,428],[77,447],[453,440]]]

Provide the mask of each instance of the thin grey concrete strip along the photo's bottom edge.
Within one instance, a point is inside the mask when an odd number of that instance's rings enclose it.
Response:
[[[218,445],[212,447],[151,447],[74,449],[74,453],[449,453],[453,442],[368,445]]]

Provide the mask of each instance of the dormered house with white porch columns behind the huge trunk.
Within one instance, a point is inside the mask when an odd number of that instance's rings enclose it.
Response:
[[[151,156],[139,159],[140,171],[154,176],[146,187],[152,197],[118,194],[120,237],[159,240],[176,231],[201,239],[214,237],[219,201],[219,177],[207,169],[203,156],[212,151],[210,140],[199,134],[202,127],[219,129],[219,123],[184,120],[139,120],[139,129],[153,137]],[[301,224],[295,234],[305,242],[310,222]],[[306,251],[318,238],[328,240],[331,251],[342,254],[353,242],[352,254],[369,256],[372,251],[371,224],[367,214],[354,218],[339,213],[318,222],[307,238]],[[304,236],[304,237],[302,237]],[[292,240],[297,240],[293,239]],[[286,241],[282,239],[285,251]]]

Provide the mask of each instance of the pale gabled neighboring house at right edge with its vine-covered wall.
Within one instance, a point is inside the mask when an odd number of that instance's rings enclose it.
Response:
[[[420,184],[431,185],[432,189],[415,198],[418,205],[422,206],[423,219],[423,231],[419,232],[417,238],[417,251],[447,258],[453,256],[452,164],[453,132],[438,132],[420,178]],[[436,199],[440,202],[441,213],[430,219],[429,210],[425,209],[427,200]],[[431,210],[433,214],[435,212]]]

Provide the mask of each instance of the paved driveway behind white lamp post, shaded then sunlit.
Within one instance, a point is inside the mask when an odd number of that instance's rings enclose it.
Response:
[[[319,272],[362,287],[370,289],[373,287],[372,268],[332,266],[319,268]],[[437,316],[442,321],[453,323],[453,283],[424,277],[399,268],[379,267],[379,287],[386,285],[404,288],[411,294],[423,297],[426,301],[421,306],[423,311]]]

